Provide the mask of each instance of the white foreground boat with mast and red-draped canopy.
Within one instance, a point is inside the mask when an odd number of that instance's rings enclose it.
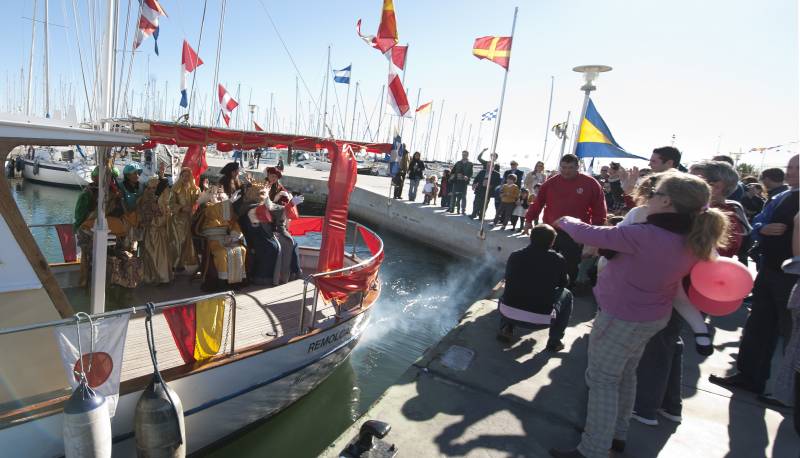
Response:
[[[114,2],[109,2],[113,4]],[[333,154],[333,166],[352,161],[351,148],[386,151],[386,144],[358,144],[331,138],[244,132],[228,129],[135,120],[110,122],[113,78],[110,77],[114,17],[109,7],[105,49],[100,72],[103,121],[93,128],[62,121],[0,115],[0,162],[20,145],[69,148],[93,147],[99,169],[97,219],[93,253],[105,253],[108,229],[102,215],[107,158],[112,148],[144,145],[220,143],[246,147],[295,147],[322,145]],[[342,157],[345,159],[335,159]],[[342,164],[342,162],[339,162]],[[350,162],[348,162],[350,163]],[[353,167],[354,169],[354,167]],[[355,173],[353,172],[353,179]],[[341,179],[342,176],[339,176]],[[341,182],[331,173],[331,193],[341,192]],[[300,218],[300,233],[335,227],[339,243],[324,254],[320,246],[301,246],[299,263],[304,276],[280,286],[245,287],[237,291],[200,294],[190,277],[175,280],[168,288],[131,288],[129,300],[117,310],[106,308],[106,257],[93,256],[90,314],[78,315],[65,291],[75,286],[75,263],[48,264],[0,177],[0,444],[18,456],[62,456],[64,406],[70,395],[61,352],[54,330],[63,326],[127,316],[127,335],[120,364],[119,398],[111,423],[114,456],[136,454],[134,410],[142,391],[152,379],[153,364],[145,331],[152,314],[157,356],[152,358],[163,379],[180,398],[185,415],[186,451],[197,452],[239,429],[281,411],[322,383],[346,360],[369,323],[380,295],[378,274],[383,242],[371,229],[346,220],[348,195],[339,195],[339,207],[323,217]],[[329,199],[329,205],[331,205]],[[328,237],[323,229],[323,244]],[[352,235],[352,243],[344,243]],[[359,251],[357,242],[368,248]],[[333,253],[340,268],[318,271],[321,256]],[[338,299],[325,299],[334,294]],[[321,297],[322,296],[322,297]],[[207,301],[221,304],[223,340],[213,354],[188,360],[165,312]],[[81,360],[86,357],[82,355]],[[108,369],[108,368],[107,368]],[[108,369],[110,370],[110,369]],[[71,374],[70,374],[71,375]]]

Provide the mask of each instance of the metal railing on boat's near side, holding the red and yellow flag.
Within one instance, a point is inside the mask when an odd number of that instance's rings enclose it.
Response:
[[[130,314],[131,316],[143,315],[147,313],[148,306],[150,305],[152,305],[154,313],[163,313],[165,310],[169,310],[175,307],[183,307],[185,305],[195,304],[197,302],[202,302],[210,299],[219,299],[219,298],[228,299],[226,301],[226,305],[230,309],[229,312],[230,327],[228,329],[228,334],[230,336],[230,354],[233,354],[236,351],[236,296],[234,295],[233,291],[224,291],[221,293],[214,293],[214,294],[204,294],[201,296],[181,298],[172,301],[153,302],[152,304],[136,305],[110,312],[95,313],[93,315],[80,313],[70,318],[63,318],[61,320],[45,321],[42,323],[34,323],[21,326],[14,326],[10,328],[2,328],[0,329],[0,336],[15,334],[18,332],[33,331],[36,329],[62,326],[66,324],[77,324],[77,323],[83,324],[83,323],[88,323],[90,318],[92,321],[94,321],[100,318],[108,318],[108,317],[127,315],[127,314]],[[221,348],[220,351],[222,350],[223,349]]]

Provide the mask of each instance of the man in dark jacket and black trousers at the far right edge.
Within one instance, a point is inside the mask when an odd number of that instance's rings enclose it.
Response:
[[[753,286],[753,307],[736,358],[738,373],[729,377],[709,376],[709,381],[717,385],[763,393],[778,336],[783,336],[784,342],[789,341],[791,321],[786,304],[797,275],[784,272],[781,265],[792,255],[792,236],[797,231],[794,220],[800,210],[799,164],[800,156],[789,160],[786,184],[791,189],[773,198],[776,201],[774,209],[758,228],[761,268]]]

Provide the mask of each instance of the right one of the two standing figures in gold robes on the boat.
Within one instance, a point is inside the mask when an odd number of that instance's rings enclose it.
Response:
[[[200,189],[194,182],[192,170],[181,169],[180,176],[172,187],[169,207],[172,213],[170,247],[174,255],[174,267],[178,272],[197,266],[197,253],[192,242],[192,213],[200,197]]]

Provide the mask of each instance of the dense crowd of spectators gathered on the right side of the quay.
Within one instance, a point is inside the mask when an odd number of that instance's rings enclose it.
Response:
[[[586,425],[575,449],[551,450],[552,456],[607,457],[625,449],[631,419],[650,426],[682,421],[683,328],[694,334],[700,355],[714,351],[711,322],[687,298],[688,274],[697,262],[717,257],[753,262],[757,276],[745,300],[750,311],[737,372],[709,380],[756,393],[770,406],[800,403],[798,161],[792,157],[785,172],[769,168],[742,177],[730,157],[686,169],[679,150],[663,147],[653,151],[646,169],[612,162],[592,176],[567,154],[557,174],[547,177],[537,164],[521,180],[523,187],[539,188],[528,192],[521,213],[530,244],[506,264],[498,338],[511,342],[520,327],[549,328],[546,351],[560,351],[579,272],[597,272],[589,276],[598,311],[585,374]],[[515,169],[499,189],[503,225],[509,210],[512,216],[517,210],[512,196],[527,191],[510,190],[520,182]],[[476,188],[485,192],[481,186],[492,181],[484,178],[486,166],[481,172]],[[485,204],[477,205],[480,211]],[[783,364],[767,394],[779,339]]]

